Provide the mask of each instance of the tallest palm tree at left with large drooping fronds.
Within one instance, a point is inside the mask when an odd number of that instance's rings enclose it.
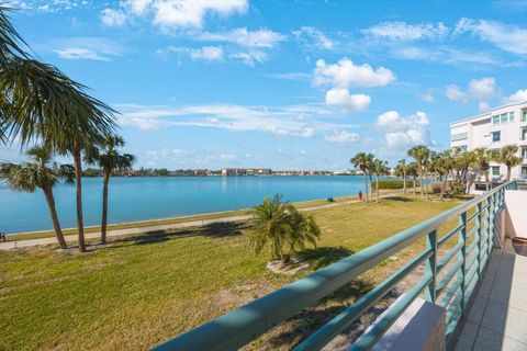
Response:
[[[2,35],[16,39],[19,36],[10,30],[12,26],[3,11],[0,18]],[[8,44],[7,48],[12,48],[12,45]],[[102,141],[106,133],[114,131],[115,112],[87,94],[85,86],[54,66],[27,58],[27,55],[5,57],[0,72],[1,129],[10,139],[19,137],[22,147],[40,140],[58,154],[72,155],[79,249],[83,252],[81,151],[87,145]]]

